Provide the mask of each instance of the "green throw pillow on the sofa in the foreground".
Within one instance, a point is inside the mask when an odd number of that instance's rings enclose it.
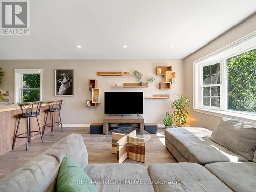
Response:
[[[69,157],[61,162],[57,178],[57,192],[66,191],[97,192],[88,175]]]

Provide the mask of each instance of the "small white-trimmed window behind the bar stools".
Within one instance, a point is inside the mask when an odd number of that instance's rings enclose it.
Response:
[[[42,100],[42,69],[15,69],[15,103]]]

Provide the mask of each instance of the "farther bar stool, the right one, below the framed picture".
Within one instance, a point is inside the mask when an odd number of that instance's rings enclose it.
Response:
[[[45,120],[44,130],[42,131],[42,135],[44,135],[46,126],[51,127],[51,131],[53,131],[53,136],[55,135],[55,126],[57,125],[61,125],[61,131],[63,132],[62,121],[60,116],[62,102],[63,100],[48,102],[48,109],[47,109],[46,120]],[[55,112],[59,113],[60,122],[55,122]],[[46,124],[49,113],[50,113],[50,116],[52,116],[51,122]]]

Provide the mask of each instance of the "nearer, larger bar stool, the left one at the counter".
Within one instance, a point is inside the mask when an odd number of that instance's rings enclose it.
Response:
[[[15,147],[17,138],[27,138],[26,151],[28,151],[28,149],[29,149],[28,143],[31,142],[31,137],[33,137],[33,136],[36,136],[36,135],[40,134],[42,143],[45,142],[44,138],[42,137],[41,127],[40,127],[40,123],[39,123],[39,119],[38,119],[38,115],[40,115],[41,105],[42,105],[42,102],[30,102],[30,103],[19,104],[20,110],[22,110],[22,113],[17,115],[18,125],[17,125],[17,130],[16,130],[16,133],[15,133],[15,137],[14,137],[14,140],[13,140],[13,144],[12,144],[12,149],[14,149],[14,147]],[[32,117],[36,117],[39,131],[31,131],[31,121],[30,121],[30,119]],[[22,118],[27,118],[27,131],[24,132],[24,133],[18,134],[20,119],[22,119]],[[31,133],[35,133],[35,134],[31,135]],[[22,136],[22,135],[25,135],[25,134],[26,134],[26,136]]]

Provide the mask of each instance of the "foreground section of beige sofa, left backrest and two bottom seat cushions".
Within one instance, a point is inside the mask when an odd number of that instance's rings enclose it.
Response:
[[[2,178],[0,191],[55,191],[58,169],[65,156],[73,158],[92,180],[99,181],[96,187],[100,192],[231,191],[209,170],[195,163],[154,164],[148,170],[130,163],[88,164],[86,146],[79,134],[67,136]]]

